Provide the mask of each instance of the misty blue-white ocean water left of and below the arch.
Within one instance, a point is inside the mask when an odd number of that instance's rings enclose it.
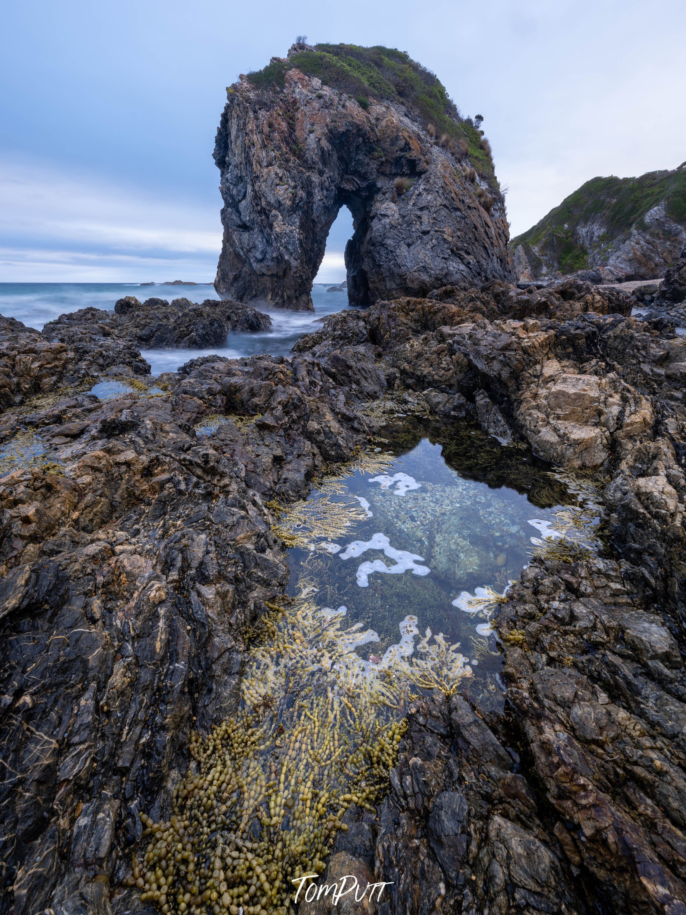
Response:
[[[153,375],[176,371],[184,362],[198,356],[219,353],[229,359],[268,353],[284,356],[295,340],[321,327],[317,323],[334,312],[348,307],[348,294],[327,292],[330,284],[316,284],[312,289],[315,313],[264,308],[272,318],[272,328],[258,334],[229,334],[225,347],[210,350],[141,350],[152,368]],[[218,299],[212,285],[154,285],[133,283],[0,283],[0,315],[16,318],[29,328],[41,330],[48,321],[67,312],[93,306],[114,310],[114,303],[123,296],[145,298],[188,298],[202,302]]]

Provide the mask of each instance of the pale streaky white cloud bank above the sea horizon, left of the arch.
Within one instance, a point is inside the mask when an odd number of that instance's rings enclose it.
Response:
[[[123,282],[214,277],[221,248],[214,208],[40,163],[0,160],[0,279]],[[152,274],[152,275],[151,275]],[[165,274],[165,275],[161,275]]]

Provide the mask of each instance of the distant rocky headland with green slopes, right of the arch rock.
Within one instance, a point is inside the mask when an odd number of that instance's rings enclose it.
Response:
[[[656,279],[686,244],[686,162],[640,178],[593,178],[509,242],[518,280]]]

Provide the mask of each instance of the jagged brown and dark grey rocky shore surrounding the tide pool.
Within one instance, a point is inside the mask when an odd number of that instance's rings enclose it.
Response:
[[[595,479],[610,545],[531,562],[496,623],[505,715],[416,699],[379,817],[348,809],[327,875],[390,882],[383,915],[686,912],[686,340],[631,307],[574,281],[445,286],[152,396],[137,328],[3,318],[0,443],[45,450],[0,479],[0,912],[153,911],[140,814],[168,818],[191,731],[236,710],[287,582],[274,505],[368,447],[383,404]],[[98,400],[107,372],[140,390]]]

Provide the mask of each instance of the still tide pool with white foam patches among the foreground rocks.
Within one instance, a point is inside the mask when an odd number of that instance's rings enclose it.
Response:
[[[394,673],[399,651],[412,664],[420,646],[425,656],[443,640],[462,657],[450,686],[499,707],[501,654],[489,623],[498,596],[534,550],[563,531],[588,543],[596,520],[523,450],[494,452],[464,427],[443,441],[416,437],[405,453],[389,443],[370,468],[323,481],[287,511],[289,593],[345,608],[346,626],[367,633],[355,651],[372,676]]]

